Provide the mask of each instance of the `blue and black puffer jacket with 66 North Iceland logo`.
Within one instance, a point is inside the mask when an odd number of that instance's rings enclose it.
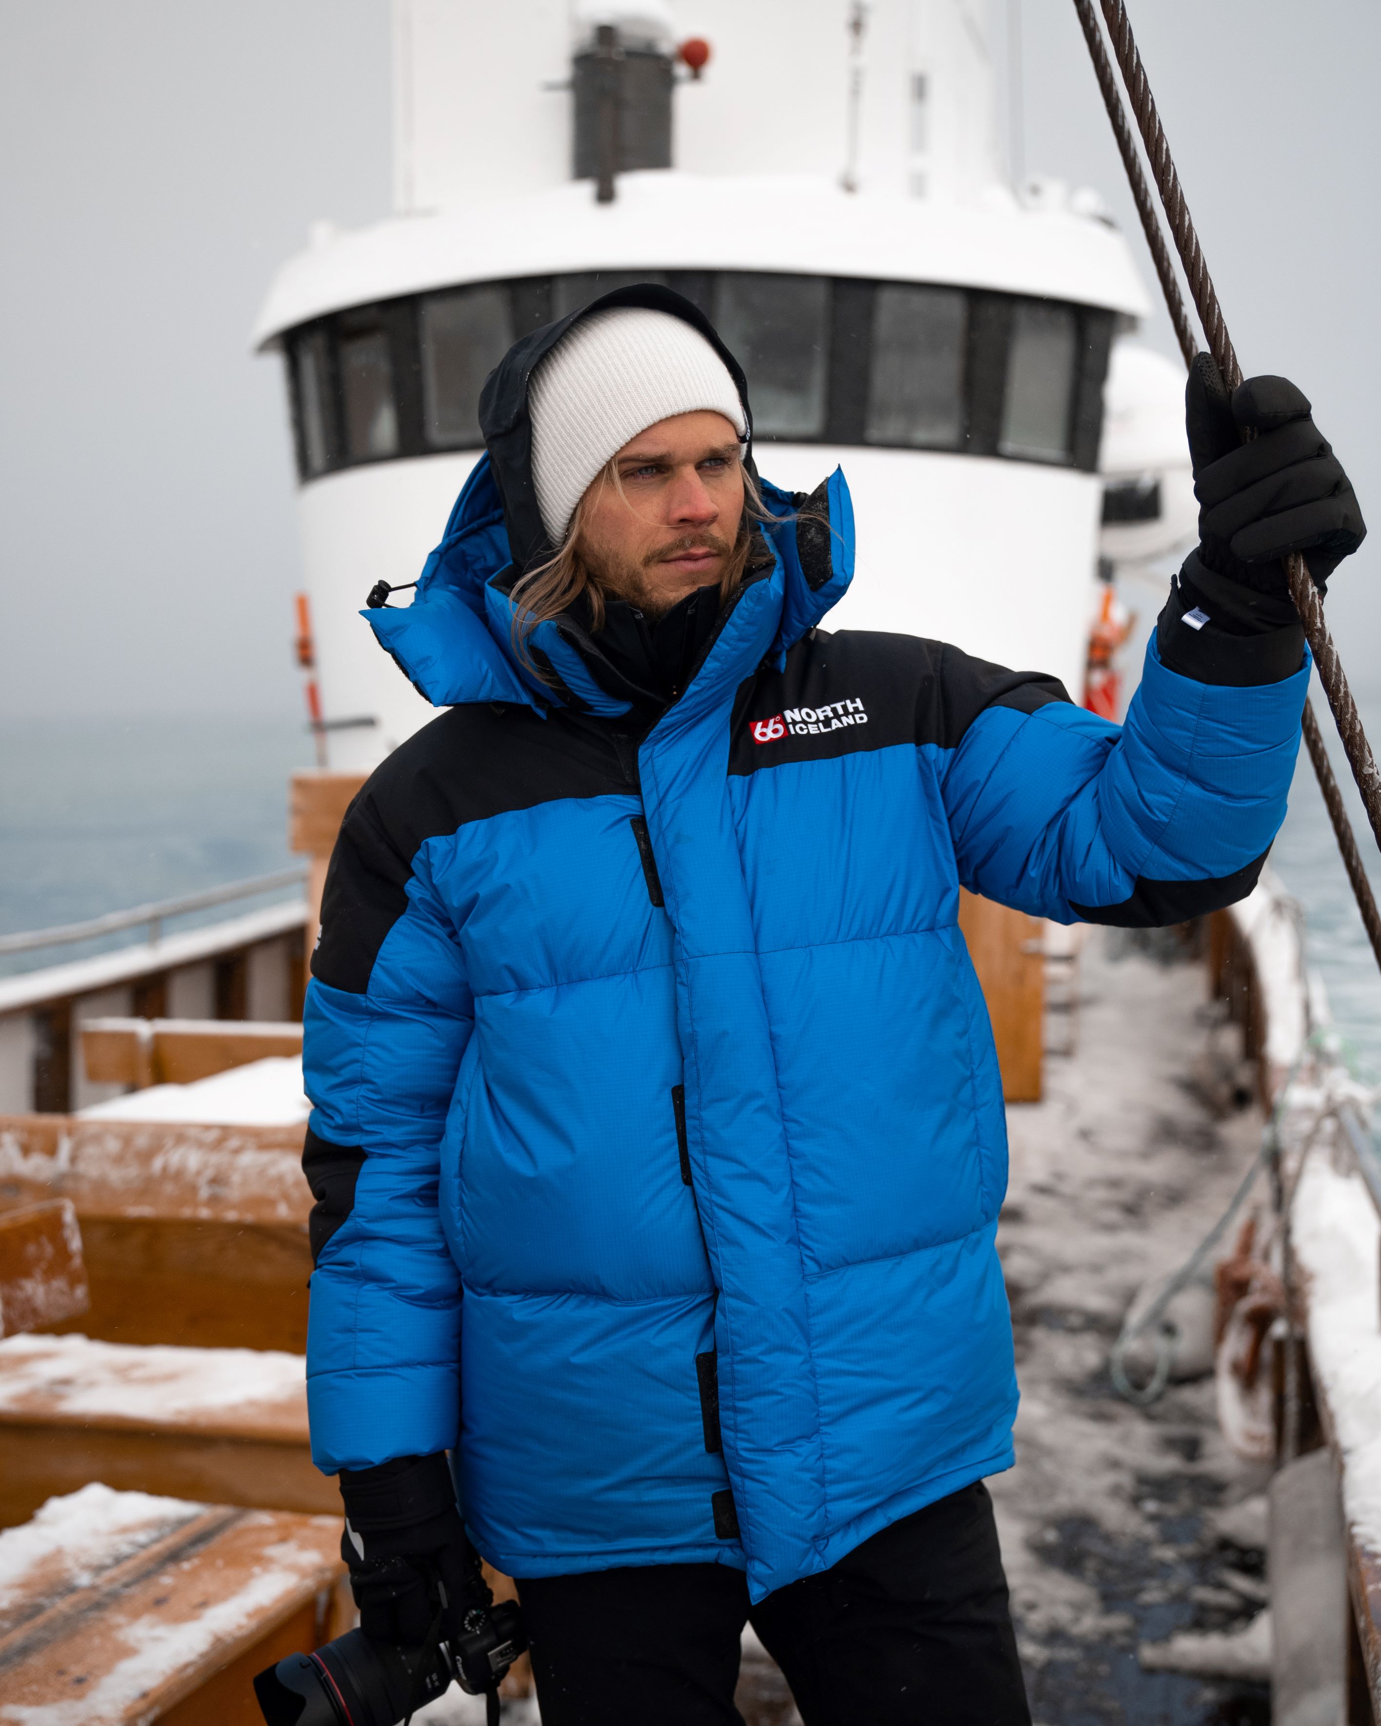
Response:
[[[552,699],[509,651],[504,459],[413,606],[369,613],[451,711],[356,799],[326,889],[314,1457],[457,1448],[473,1538],[520,1578],[718,1560],[761,1598],[1012,1462],[960,884],[1062,922],[1239,898],[1307,668],[1214,685],[1153,640],[1119,730],[1032,673],[829,635],[836,473],[829,535],[765,488],[777,521],[659,716],[577,620],[535,644]]]

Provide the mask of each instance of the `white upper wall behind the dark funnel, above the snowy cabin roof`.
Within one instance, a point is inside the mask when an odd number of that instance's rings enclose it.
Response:
[[[589,5],[583,7],[589,12]],[[611,5],[611,12],[618,12]],[[673,95],[677,167],[823,174],[848,162],[849,0],[675,0],[673,36],[711,60]],[[870,0],[861,50],[860,190],[968,198],[999,178],[989,0]],[[394,198],[400,214],[537,192],[570,178],[570,0],[394,0]],[[913,74],[927,78],[925,161]],[[765,212],[765,219],[773,219]]]

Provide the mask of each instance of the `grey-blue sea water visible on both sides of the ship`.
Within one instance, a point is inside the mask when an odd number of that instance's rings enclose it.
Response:
[[[1314,704],[1381,896],[1381,853],[1317,683]],[[1381,739],[1381,697],[1360,704]],[[312,740],[293,716],[0,720],[0,932],[71,923],[290,865],[288,778],[312,759]],[[1305,910],[1310,963],[1336,1024],[1359,1061],[1381,1075],[1381,972],[1303,751],[1271,861]],[[243,908],[254,903],[266,901]],[[224,915],[218,908],[199,920]],[[0,956],[0,975],[112,944]]]

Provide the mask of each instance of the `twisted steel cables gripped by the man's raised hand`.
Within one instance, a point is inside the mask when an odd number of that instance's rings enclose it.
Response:
[[[1179,173],[1176,171],[1176,164],[1170,155],[1165,128],[1160,124],[1160,114],[1155,105],[1155,97],[1151,95],[1150,81],[1146,79],[1146,69],[1141,64],[1136,38],[1132,36],[1127,9],[1124,0],[1100,0],[1100,5],[1108,24],[1113,54],[1117,55],[1117,66],[1122,72],[1122,83],[1127,88],[1132,114],[1136,117],[1138,129],[1141,131],[1141,142],[1146,147],[1146,157],[1151,164],[1151,173],[1155,174],[1160,202],[1170,224],[1170,235],[1174,236],[1179,261],[1184,266],[1184,278],[1189,283],[1189,293],[1193,295],[1200,323],[1203,324],[1207,335],[1208,350],[1212,352],[1227,388],[1234,390],[1241,383],[1241,366],[1238,364],[1233,338],[1227,333],[1227,321],[1222,316],[1222,306],[1219,304],[1217,290],[1214,288],[1214,278],[1208,274],[1208,264],[1203,259],[1203,247],[1198,243],[1198,233],[1195,231],[1195,224],[1189,216],[1189,205],[1184,200],[1184,188],[1179,183]],[[1098,17],[1093,10],[1093,0],[1074,0],[1074,9],[1079,14],[1079,24],[1084,31],[1084,41],[1088,43],[1089,59],[1093,60],[1093,69],[1098,78],[1098,88],[1103,91],[1103,105],[1108,110],[1108,121],[1112,123],[1113,136],[1117,138],[1117,148],[1122,154],[1122,166],[1127,173],[1132,200],[1136,204],[1138,216],[1141,217],[1141,228],[1146,235],[1146,245],[1151,250],[1157,276],[1160,278],[1160,288],[1165,295],[1165,307],[1170,314],[1170,323],[1174,324],[1176,340],[1179,342],[1179,349],[1184,354],[1184,364],[1188,366],[1198,352],[1198,342],[1195,340],[1195,331],[1189,324],[1189,314],[1184,309],[1179,283],[1170,264],[1170,254],[1165,247],[1165,235],[1162,233],[1155,205],[1151,204],[1146,176],[1141,171],[1141,161],[1136,154],[1122,98],[1113,81],[1112,64],[1108,62],[1103,33],[1098,28]],[[1371,830],[1376,835],[1378,846],[1381,846],[1381,772],[1376,766],[1376,758],[1372,756],[1371,744],[1367,742],[1367,734],[1362,728],[1362,715],[1357,711],[1357,702],[1353,701],[1352,689],[1348,687],[1346,673],[1343,671],[1341,659],[1338,658],[1338,649],[1333,644],[1333,635],[1324,621],[1324,602],[1319,595],[1319,589],[1310,580],[1305,559],[1298,552],[1286,559],[1286,575],[1290,580],[1290,595],[1295,601],[1295,609],[1300,613],[1305,639],[1308,640],[1310,652],[1314,654],[1319,682],[1327,696],[1327,704],[1333,711],[1334,723],[1338,725],[1338,735],[1343,739],[1343,749],[1346,751],[1352,777],[1357,780],[1357,789],[1362,794],[1362,804],[1367,811]],[[1333,777],[1333,768],[1324,751],[1324,740],[1319,735],[1319,721],[1314,718],[1314,709],[1308,701],[1305,701],[1302,723],[1308,756],[1314,763],[1314,772],[1319,777],[1319,789],[1324,794],[1324,806],[1327,808],[1329,820],[1333,822],[1338,849],[1343,854],[1343,868],[1346,870],[1352,891],[1357,896],[1357,910],[1362,915],[1362,923],[1365,925],[1367,937],[1371,939],[1372,953],[1376,954],[1378,965],[1381,965],[1381,913],[1378,913],[1376,899],[1357,849],[1357,837],[1352,830],[1346,808],[1343,806],[1343,796],[1338,789],[1338,782]]]

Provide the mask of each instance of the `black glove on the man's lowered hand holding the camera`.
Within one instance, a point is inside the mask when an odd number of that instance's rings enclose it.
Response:
[[[444,1455],[342,1469],[340,1496],[340,1555],[366,1636],[411,1648],[437,1636],[451,1641],[468,1612],[489,1609],[492,1595]]]

